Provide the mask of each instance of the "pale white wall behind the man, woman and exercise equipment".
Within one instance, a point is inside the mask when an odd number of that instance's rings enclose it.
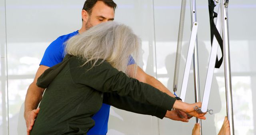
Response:
[[[180,0],[115,0],[115,2],[118,4],[115,21],[131,26],[142,39],[143,53],[138,62],[139,66],[148,74],[157,77],[172,91]],[[207,2],[204,0],[196,3],[201,97],[210,52]],[[50,42],[58,36],[80,29],[80,12],[83,4],[84,0],[72,2],[70,0],[0,0],[0,135],[26,134],[23,103],[28,85],[32,82],[44,50]],[[184,46],[182,46],[184,58],[186,58],[191,26],[189,5],[190,1],[187,2]],[[256,114],[256,99],[253,98],[256,96],[254,68],[256,66],[254,53],[256,1],[230,0],[228,11],[235,134],[256,135],[254,129],[256,117],[253,115]],[[184,61],[180,69],[179,84],[181,84],[183,68]],[[194,102],[192,78],[190,75],[186,100],[191,103]],[[216,135],[226,115],[223,65],[214,73],[209,109],[214,109],[215,114],[206,115],[207,120],[203,121],[202,126],[203,134]],[[191,119],[189,123],[169,119],[159,120],[156,117],[111,107],[108,134],[189,135],[194,123],[195,119]]]

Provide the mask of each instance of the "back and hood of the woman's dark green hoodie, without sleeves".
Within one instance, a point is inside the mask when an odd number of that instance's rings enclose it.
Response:
[[[47,85],[54,78],[45,90],[31,135],[84,135],[94,126],[91,116],[102,105],[102,92],[76,83],[78,72],[85,73],[86,66],[80,67],[75,57],[66,59],[65,66],[62,62],[57,69],[38,79],[38,85]]]

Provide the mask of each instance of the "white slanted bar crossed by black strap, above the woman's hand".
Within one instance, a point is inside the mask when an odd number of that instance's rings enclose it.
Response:
[[[217,28],[218,32],[220,32],[220,34],[221,34],[221,30],[222,30],[221,20],[222,20],[221,19],[221,9],[219,6],[218,16],[217,16],[217,20],[216,20],[216,28]],[[217,41],[216,37],[214,36],[214,38],[212,40],[212,49],[211,49],[210,60],[209,60],[209,64],[208,64],[206,82],[204,85],[204,96],[203,96],[202,108],[201,108],[201,111],[203,113],[205,113],[208,109],[210,91],[211,91],[211,87],[212,87],[212,77],[214,74],[217,52],[218,52],[218,41]]]

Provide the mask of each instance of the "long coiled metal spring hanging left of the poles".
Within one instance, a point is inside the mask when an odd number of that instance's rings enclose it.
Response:
[[[179,70],[180,70],[180,57],[181,57],[181,47],[182,47],[182,38],[184,31],[184,22],[185,22],[185,12],[186,12],[186,0],[181,1],[180,8],[180,24],[179,24],[179,32],[178,32],[178,43],[176,50],[176,58],[175,58],[175,67],[174,67],[174,78],[173,78],[173,91],[176,92],[178,88],[178,79],[179,79]]]

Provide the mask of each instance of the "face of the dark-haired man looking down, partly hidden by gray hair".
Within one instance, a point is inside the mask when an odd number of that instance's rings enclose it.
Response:
[[[85,28],[88,30],[92,26],[96,26],[102,22],[113,21],[114,15],[114,9],[112,7],[107,6],[102,1],[98,1],[88,16]]]

